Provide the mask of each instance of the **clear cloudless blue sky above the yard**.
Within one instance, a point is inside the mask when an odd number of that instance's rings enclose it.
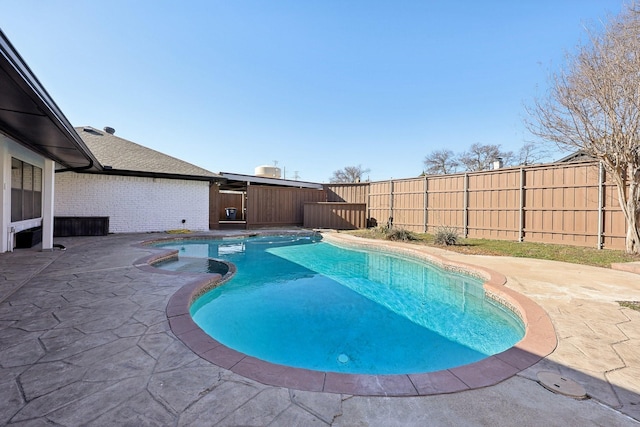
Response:
[[[213,172],[408,178],[517,151],[524,105],[623,0],[0,0],[0,28],[74,126]]]

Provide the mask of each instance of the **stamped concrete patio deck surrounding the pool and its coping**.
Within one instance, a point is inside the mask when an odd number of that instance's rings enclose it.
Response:
[[[211,233],[215,234],[229,234]],[[553,353],[505,381],[416,397],[299,391],[214,365],[172,332],[166,308],[194,281],[134,265],[167,234],[56,239],[66,251],[0,254],[0,424],[637,425],[640,276],[551,261],[425,249],[507,277],[555,327]],[[540,371],[581,384],[552,393]]]

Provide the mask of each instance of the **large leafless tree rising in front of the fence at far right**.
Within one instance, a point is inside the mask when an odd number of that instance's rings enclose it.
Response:
[[[527,126],[601,161],[616,183],[626,250],[640,253],[640,10],[627,6],[589,41],[567,55],[546,97],[528,108]]]

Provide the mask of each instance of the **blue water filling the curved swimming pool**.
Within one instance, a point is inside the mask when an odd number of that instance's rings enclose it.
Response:
[[[182,269],[198,258],[236,264],[233,279],[196,300],[191,315],[226,346],[272,363],[432,372],[502,352],[524,336],[511,311],[485,298],[480,280],[409,258],[300,236],[162,246],[179,250]]]

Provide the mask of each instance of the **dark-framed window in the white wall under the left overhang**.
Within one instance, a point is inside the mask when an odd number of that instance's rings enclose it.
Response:
[[[42,169],[11,159],[11,222],[42,216]]]

